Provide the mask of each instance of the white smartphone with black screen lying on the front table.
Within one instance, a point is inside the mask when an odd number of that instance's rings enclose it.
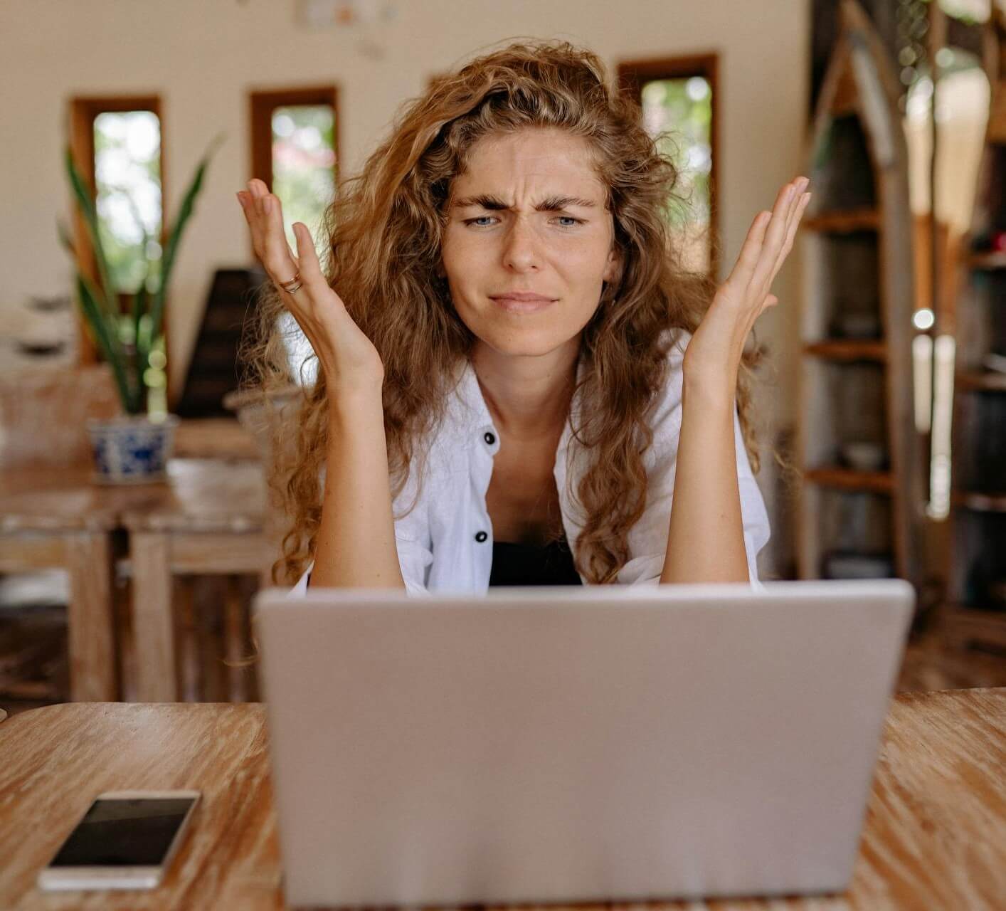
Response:
[[[38,874],[38,888],[155,889],[198,801],[199,791],[99,794]]]

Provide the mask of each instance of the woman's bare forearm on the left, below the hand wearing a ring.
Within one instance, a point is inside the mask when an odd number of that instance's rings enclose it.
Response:
[[[333,404],[312,587],[405,587],[386,466],[379,392]]]

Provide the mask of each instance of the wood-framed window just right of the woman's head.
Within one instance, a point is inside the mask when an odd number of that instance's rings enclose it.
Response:
[[[636,95],[643,124],[680,172],[667,218],[685,265],[713,277],[716,251],[715,54],[622,63],[619,83]]]

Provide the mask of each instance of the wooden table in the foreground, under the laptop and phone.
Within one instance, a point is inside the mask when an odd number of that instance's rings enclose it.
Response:
[[[1004,769],[1006,688],[899,694],[847,893],[656,907],[1001,911]],[[35,876],[91,799],[127,787],[203,792],[161,888],[38,892]],[[284,908],[276,825],[261,705],[67,704],[0,724],[2,908]]]

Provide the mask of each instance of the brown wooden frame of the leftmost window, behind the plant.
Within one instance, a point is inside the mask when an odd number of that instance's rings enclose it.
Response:
[[[92,198],[97,198],[98,185],[95,174],[95,119],[99,114],[117,113],[123,111],[150,111],[161,125],[160,142],[160,170],[161,170],[161,236],[160,244],[163,249],[167,243],[167,190],[165,180],[165,154],[164,154],[164,116],[162,112],[160,96],[157,95],[116,95],[116,96],[77,96],[69,100],[69,147],[73,155],[73,160],[80,171],[85,185],[91,192]],[[88,236],[88,226],[83,217],[77,210],[75,200],[71,198],[72,205],[72,234],[73,243],[80,252],[80,270],[92,281],[98,281],[98,258],[95,248]],[[129,295],[119,295],[120,310],[124,310]],[[77,337],[79,339],[78,352],[79,363],[96,363],[98,361],[98,351],[95,348],[91,336],[88,334],[87,324],[83,315],[77,312]],[[168,352],[168,306],[165,302],[164,308],[164,351],[170,362]]]

